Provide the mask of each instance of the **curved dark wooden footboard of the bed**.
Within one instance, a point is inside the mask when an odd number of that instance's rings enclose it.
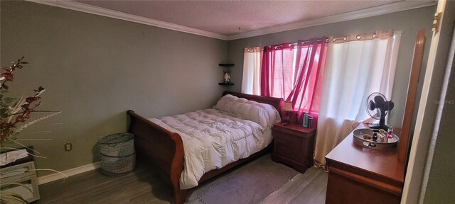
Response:
[[[171,132],[150,120],[127,111],[130,115],[129,132],[133,133],[137,153],[151,159],[164,174],[169,176],[176,203],[184,203],[186,190],[180,189],[180,176],[183,171],[183,142],[175,132]]]

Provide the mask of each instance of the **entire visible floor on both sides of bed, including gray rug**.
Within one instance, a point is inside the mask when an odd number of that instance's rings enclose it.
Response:
[[[327,174],[321,169],[310,168],[305,174],[299,174],[288,166],[272,162],[267,154],[191,189],[187,202],[232,203],[235,200],[236,204],[322,204],[326,197],[326,183]],[[121,176],[105,176],[97,169],[66,180],[45,183],[39,189],[41,200],[38,203],[41,204],[172,203],[173,198],[171,188],[159,179],[156,170],[139,161],[134,171]],[[235,193],[236,197],[222,198],[223,193],[225,197],[232,197]]]

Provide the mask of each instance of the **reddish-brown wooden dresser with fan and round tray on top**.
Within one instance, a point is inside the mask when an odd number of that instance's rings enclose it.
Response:
[[[368,128],[360,124],[358,128]],[[356,129],[358,129],[356,128]],[[394,129],[395,135],[398,131]],[[405,163],[397,149],[370,149],[353,142],[351,132],[326,156],[326,203],[400,203]]]

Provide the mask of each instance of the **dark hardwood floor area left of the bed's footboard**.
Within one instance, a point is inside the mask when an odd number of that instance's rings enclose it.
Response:
[[[39,203],[169,203],[171,188],[141,162],[121,176],[100,169],[39,186]]]

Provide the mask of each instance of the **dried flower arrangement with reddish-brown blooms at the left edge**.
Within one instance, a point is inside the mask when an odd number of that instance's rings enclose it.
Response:
[[[13,62],[10,67],[4,67],[3,72],[0,74],[0,148],[4,148],[6,143],[11,142],[25,147],[21,143],[16,142],[17,135],[24,128],[60,113],[58,111],[36,110],[36,108],[41,105],[40,95],[45,91],[41,86],[38,87],[38,89],[33,90],[35,91],[33,96],[22,96],[18,100],[6,96],[9,89],[9,86],[6,83],[14,80],[14,71],[16,71],[16,69],[22,69],[23,64],[28,64],[28,62],[23,62],[23,57],[21,57],[21,59]],[[31,113],[33,112],[50,112],[51,114],[25,123],[26,120],[30,119]],[[19,126],[21,123],[25,124]]]

